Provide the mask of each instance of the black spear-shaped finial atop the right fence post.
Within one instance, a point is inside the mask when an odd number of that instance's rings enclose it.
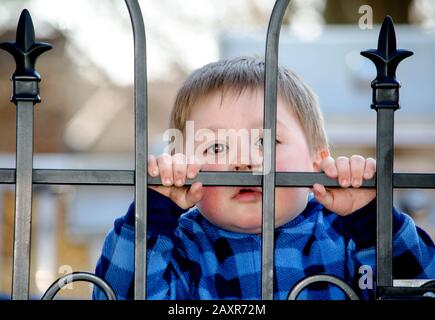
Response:
[[[372,82],[372,108],[399,108],[400,82],[396,79],[399,63],[413,55],[408,50],[397,49],[393,19],[386,16],[379,33],[378,48],[362,51],[361,55],[370,59],[376,66],[377,76]]]

